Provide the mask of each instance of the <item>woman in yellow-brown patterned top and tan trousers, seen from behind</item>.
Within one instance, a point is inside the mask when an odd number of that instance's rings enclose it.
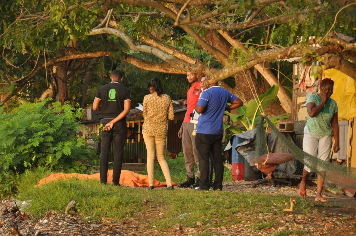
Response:
[[[164,178],[166,178],[167,189],[173,189],[171,173],[169,173],[164,153],[168,119],[174,119],[173,104],[171,97],[163,93],[161,81],[157,77],[148,81],[148,88],[151,94],[143,98],[143,118],[145,118],[145,122],[142,128],[142,135],[147,149],[147,175],[150,184],[148,190],[155,188],[153,182],[155,153]]]

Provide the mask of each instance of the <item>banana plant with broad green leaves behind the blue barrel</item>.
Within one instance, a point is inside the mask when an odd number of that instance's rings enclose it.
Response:
[[[255,128],[255,124],[258,122],[258,116],[261,115],[263,110],[268,106],[268,104],[277,96],[278,86],[273,85],[270,87],[266,93],[261,94],[257,98],[251,99],[247,106],[241,106],[237,108],[239,114],[231,114],[225,111],[225,114],[230,116],[230,119],[233,122],[239,122],[243,124],[246,130],[251,130]],[[289,117],[289,113],[281,114],[278,116],[274,116],[269,118],[272,123],[276,123],[279,119],[287,119]],[[232,133],[242,133],[243,131],[232,127],[231,125],[225,125],[224,128],[229,128]]]

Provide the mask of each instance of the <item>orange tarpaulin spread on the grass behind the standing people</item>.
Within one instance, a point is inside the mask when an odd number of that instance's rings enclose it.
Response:
[[[94,175],[52,173],[49,177],[41,179],[39,184],[35,185],[35,187],[41,186],[42,184],[46,184],[57,179],[70,178],[96,179],[100,181],[100,173],[96,173]],[[108,183],[112,183],[112,170],[108,170]],[[122,170],[120,176],[120,184],[124,186],[148,187],[148,176],[140,175],[128,170]],[[173,186],[177,186],[177,184],[173,183]],[[155,188],[159,187],[167,187],[167,184],[166,182],[159,182],[155,179]]]

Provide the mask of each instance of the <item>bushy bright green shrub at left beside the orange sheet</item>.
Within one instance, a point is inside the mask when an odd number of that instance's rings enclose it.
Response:
[[[83,162],[95,157],[79,135],[83,109],[48,101],[24,103],[12,113],[0,109],[0,193],[11,191],[26,169],[83,172]]]

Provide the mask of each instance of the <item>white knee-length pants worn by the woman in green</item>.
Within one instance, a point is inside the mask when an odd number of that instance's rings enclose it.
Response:
[[[329,162],[330,150],[331,150],[331,138],[330,136],[316,135],[309,132],[307,125],[304,127],[303,138],[303,151],[308,154],[317,157],[320,160]],[[313,171],[326,171],[328,163],[323,163],[320,160],[304,158],[304,169],[308,172]]]

